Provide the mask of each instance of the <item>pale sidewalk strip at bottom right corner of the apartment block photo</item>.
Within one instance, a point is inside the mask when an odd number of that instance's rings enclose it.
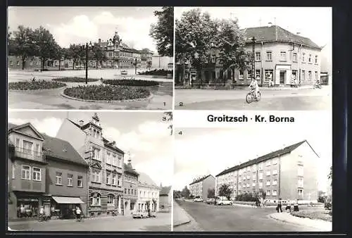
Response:
[[[294,225],[303,225],[306,227],[315,228],[319,232],[331,232],[332,223],[325,220],[313,220],[310,218],[298,218],[290,213],[272,213],[270,218],[282,221],[284,223],[291,223]]]

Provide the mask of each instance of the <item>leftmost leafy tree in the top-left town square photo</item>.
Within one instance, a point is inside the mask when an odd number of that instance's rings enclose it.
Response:
[[[33,39],[33,30],[30,27],[18,26],[18,30],[13,32],[13,42],[9,45],[9,52],[20,56],[22,61],[22,70],[25,69],[25,62],[30,56],[34,56],[35,45]]]

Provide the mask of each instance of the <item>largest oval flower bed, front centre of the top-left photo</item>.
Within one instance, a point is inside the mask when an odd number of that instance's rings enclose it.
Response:
[[[143,99],[150,96],[147,89],[127,86],[89,85],[70,87],[63,92],[77,99],[96,101],[125,101]]]

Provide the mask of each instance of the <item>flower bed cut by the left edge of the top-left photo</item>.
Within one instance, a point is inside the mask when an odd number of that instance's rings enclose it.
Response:
[[[52,81],[23,81],[23,82],[9,82],[8,89],[10,90],[39,90],[39,89],[57,89],[59,87],[65,87],[66,84],[63,82],[52,82]]]

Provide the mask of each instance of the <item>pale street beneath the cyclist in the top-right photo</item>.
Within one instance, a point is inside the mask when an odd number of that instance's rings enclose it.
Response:
[[[246,89],[175,89],[178,110],[331,110],[331,87],[322,89],[260,89],[261,99],[246,103]],[[180,106],[182,103],[182,106]]]

